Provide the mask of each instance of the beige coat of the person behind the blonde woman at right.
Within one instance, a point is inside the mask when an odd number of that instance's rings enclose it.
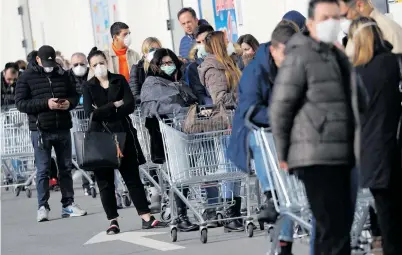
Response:
[[[402,27],[376,9],[371,12],[370,17],[377,22],[378,27],[384,35],[384,39],[392,44],[392,53],[402,53]],[[353,48],[351,43],[346,45],[346,54],[349,58],[353,58]]]

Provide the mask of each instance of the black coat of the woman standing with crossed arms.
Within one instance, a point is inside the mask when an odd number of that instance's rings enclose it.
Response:
[[[112,132],[126,132],[124,157],[136,157],[138,165],[142,165],[146,162],[145,157],[138,141],[137,130],[129,116],[135,107],[133,94],[123,75],[109,72],[108,78],[108,89],[104,89],[96,77],[83,85],[84,110],[88,116],[92,114],[91,131],[103,132],[102,122],[105,122]],[[124,104],[116,108],[113,103],[120,100]]]

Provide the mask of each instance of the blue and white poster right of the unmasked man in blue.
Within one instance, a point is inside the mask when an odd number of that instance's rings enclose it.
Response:
[[[215,28],[225,32],[231,42],[236,42],[239,38],[234,2],[235,0],[212,0]]]

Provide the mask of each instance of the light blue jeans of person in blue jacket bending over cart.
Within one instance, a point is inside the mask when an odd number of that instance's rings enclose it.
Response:
[[[263,192],[270,191],[272,188],[269,183],[267,169],[263,160],[264,152],[261,150],[261,146],[258,145],[254,134],[250,134],[249,146],[251,151],[253,152],[255,171],[258,180],[261,183],[261,189]],[[293,242],[293,231],[294,231],[293,221],[289,217],[285,217],[283,219],[281,232],[279,234],[279,240],[286,242]]]

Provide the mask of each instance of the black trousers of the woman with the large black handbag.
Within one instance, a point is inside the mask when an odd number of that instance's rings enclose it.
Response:
[[[139,215],[150,213],[148,200],[146,198],[144,184],[140,178],[137,156],[135,155],[134,142],[127,136],[126,148],[119,171],[127,186],[131,200]],[[117,201],[114,185],[114,169],[98,169],[95,172],[95,179],[99,187],[99,193],[109,220],[119,216],[117,213]]]

